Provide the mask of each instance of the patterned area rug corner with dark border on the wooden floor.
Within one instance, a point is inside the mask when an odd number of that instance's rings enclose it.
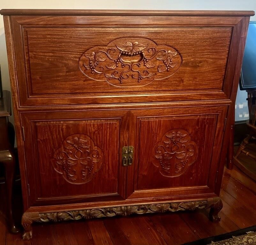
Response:
[[[256,245],[256,226],[209,237],[184,245]]]

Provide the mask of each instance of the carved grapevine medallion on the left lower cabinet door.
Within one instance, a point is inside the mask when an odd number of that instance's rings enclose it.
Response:
[[[67,137],[54,152],[52,165],[56,172],[72,184],[89,182],[102,167],[102,150],[86,134]]]

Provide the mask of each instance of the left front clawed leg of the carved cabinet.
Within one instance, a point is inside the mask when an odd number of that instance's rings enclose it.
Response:
[[[39,213],[38,212],[31,212],[31,213],[24,213],[22,215],[21,224],[24,228],[24,233],[22,235],[23,240],[30,240],[32,238],[32,223],[33,221],[39,221]]]

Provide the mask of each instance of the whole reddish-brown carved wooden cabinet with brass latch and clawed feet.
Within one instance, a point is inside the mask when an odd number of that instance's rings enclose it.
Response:
[[[33,222],[209,208],[253,11],[1,10]]]

